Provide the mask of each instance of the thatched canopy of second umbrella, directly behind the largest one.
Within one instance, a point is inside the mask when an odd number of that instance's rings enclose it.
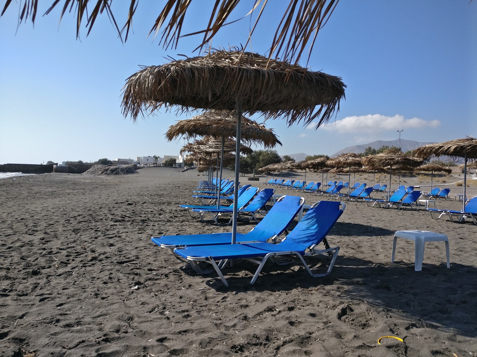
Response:
[[[267,129],[263,124],[242,117],[241,141],[249,144],[262,144],[265,149],[281,145],[273,129]],[[237,133],[237,116],[235,111],[207,110],[191,119],[179,120],[171,125],[166,132],[166,139],[171,141],[179,137],[195,139],[197,136],[212,136],[216,139],[235,138]]]

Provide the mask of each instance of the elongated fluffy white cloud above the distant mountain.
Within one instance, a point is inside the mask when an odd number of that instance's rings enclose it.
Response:
[[[402,130],[416,128],[436,128],[440,125],[439,120],[424,120],[419,118],[404,119],[402,115],[387,117],[381,114],[368,114],[360,116],[346,117],[336,120],[323,126],[325,130],[336,130],[341,133],[345,132],[380,132],[383,130]],[[313,123],[311,123],[313,124]],[[310,124],[310,125],[311,125]],[[310,127],[307,127],[307,129]]]

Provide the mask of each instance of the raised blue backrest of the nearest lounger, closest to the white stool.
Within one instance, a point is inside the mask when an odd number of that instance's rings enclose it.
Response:
[[[313,205],[287,238],[279,243],[280,249],[304,251],[311,245],[320,243],[342,213],[338,201],[320,201],[318,205]]]

